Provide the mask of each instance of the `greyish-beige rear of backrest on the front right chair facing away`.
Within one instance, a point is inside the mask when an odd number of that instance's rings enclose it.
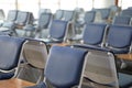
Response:
[[[88,78],[90,82],[95,82],[95,85],[92,85],[94,88],[98,88],[99,86],[102,86],[102,88],[110,86],[112,88],[119,88],[114,55],[110,52],[88,52],[84,76]]]

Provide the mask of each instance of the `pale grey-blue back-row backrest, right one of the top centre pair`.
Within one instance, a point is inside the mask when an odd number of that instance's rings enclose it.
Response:
[[[73,21],[75,16],[75,11],[64,10],[63,20]]]

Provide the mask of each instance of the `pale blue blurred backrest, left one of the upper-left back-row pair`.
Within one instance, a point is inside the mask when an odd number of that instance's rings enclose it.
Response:
[[[10,10],[8,12],[7,21],[15,21],[18,15],[18,10]]]

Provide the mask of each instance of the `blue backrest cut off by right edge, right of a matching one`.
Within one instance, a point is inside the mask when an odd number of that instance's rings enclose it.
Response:
[[[114,48],[128,48],[131,46],[132,26],[110,25],[107,44]]]

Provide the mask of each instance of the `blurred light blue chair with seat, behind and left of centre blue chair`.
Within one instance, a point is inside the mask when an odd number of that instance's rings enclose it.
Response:
[[[26,35],[30,32],[31,34],[29,36],[32,37],[47,37],[52,18],[52,13],[40,14],[38,23],[36,25],[24,26],[24,35]]]

